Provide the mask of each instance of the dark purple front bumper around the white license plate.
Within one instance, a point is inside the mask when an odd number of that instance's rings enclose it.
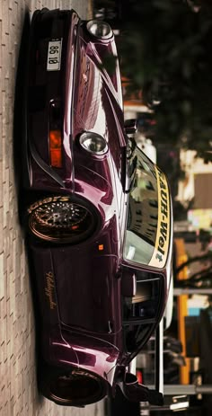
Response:
[[[26,137],[23,155],[27,155],[23,172],[26,188],[50,190],[64,188],[66,177],[72,180],[73,164],[64,155],[60,168],[53,168],[49,157],[49,130],[61,131],[62,140],[70,146],[72,88],[75,79],[75,48],[79,17],[74,10],[49,11],[33,14],[31,21],[30,53],[26,99]],[[49,42],[61,44],[60,65],[49,70]],[[52,69],[52,68],[50,68]],[[56,104],[56,105],[54,105]],[[68,107],[68,109],[67,109]],[[67,122],[68,119],[68,122]],[[66,161],[66,163],[65,163]]]

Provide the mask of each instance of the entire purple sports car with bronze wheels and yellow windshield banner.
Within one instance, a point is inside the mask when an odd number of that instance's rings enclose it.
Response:
[[[40,392],[84,406],[139,385],[130,361],[168,296],[172,207],[163,172],[124,123],[108,23],[43,9],[31,21],[24,221],[40,309]],[[131,135],[132,136],[132,135]],[[34,279],[34,278],[33,278]]]

